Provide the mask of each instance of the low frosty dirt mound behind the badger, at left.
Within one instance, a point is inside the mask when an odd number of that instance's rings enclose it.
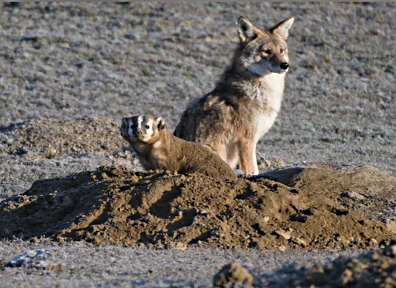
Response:
[[[128,144],[120,135],[120,122],[100,117],[28,120],[0,126],[1,153],[28,159],[87,152],[112,154],[124,146]]]

